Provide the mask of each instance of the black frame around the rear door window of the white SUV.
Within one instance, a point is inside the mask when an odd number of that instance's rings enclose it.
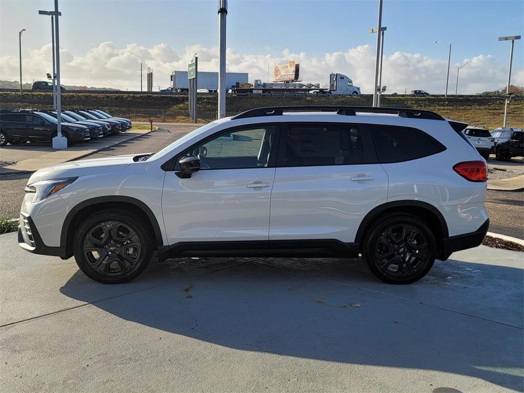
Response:
[[[363,148],[363,155],[362,155],[362,162],[355,162],[355,163],[342,163],[342,164],[312,164],[312,165],[286,165],[283,160],[286,152],[286,140],[285,137],[287,136],[287,132],[289,127],[291,126],[308,126],[308,127],[314,127],[314,126],[333,126],[333,125],[342,125],[342,126],[348,126],[348,127],[357,127],[361,132],[362,137],[362,148]],[[307,167],[341,167],[341,166],[349,166],[349,165],[367,165],[367,164],[373,164],[378,163],[377,153],[375,151],[375,147],[373,145],[373,140],[371,137],[371,134],[369,132],[369,127],[365,123],[350,123],[350,122],[287,122],[282,123],[282,129],[280,132],[280,138],[279,138],[279,149],[277,154],[277,168],[307,168]]]

